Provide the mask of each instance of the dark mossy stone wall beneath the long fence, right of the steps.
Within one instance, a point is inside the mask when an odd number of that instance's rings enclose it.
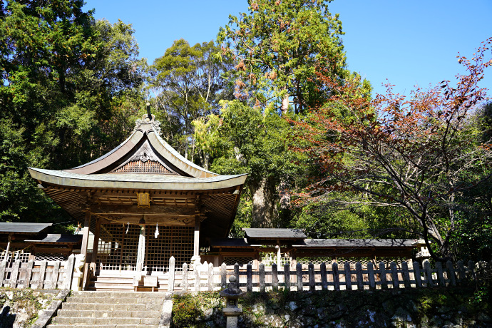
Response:
[[[490,301],[466,287],[253,292],[240,301],[239,327],[492,327]],[[175,295],[174,327],[225,327],[218,293]]]

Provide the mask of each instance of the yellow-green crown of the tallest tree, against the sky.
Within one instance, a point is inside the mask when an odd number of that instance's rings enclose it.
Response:
[[[280,108],[294,103],[297,113],[322,101],[326,94],[314,79],[316,65],[342,76],[345,66],[342,22],[322,0],[249,0],[249,13],[229,16],[217,41],[220,56],[235,59],[236,96]]]

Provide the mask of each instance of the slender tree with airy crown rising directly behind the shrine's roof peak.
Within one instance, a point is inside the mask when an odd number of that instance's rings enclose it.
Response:
[[[212,55],[218,48],[213,41],[190,46],[188,41],[176,40],[150,66],[150,88],[156,93],[158,111],[168,123],[168,140],[175,148],[193,160],[200,155],[205,168],[207,153],[195,150],[193,120],[217,113],[220,99],[232,98],[222,74],[232,68],[227,61],[217,61]]]

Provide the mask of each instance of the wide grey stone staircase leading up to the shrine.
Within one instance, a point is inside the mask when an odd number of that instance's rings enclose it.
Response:
[[[164,328],[172,307],[163,292],[72,292],[48,327]]]

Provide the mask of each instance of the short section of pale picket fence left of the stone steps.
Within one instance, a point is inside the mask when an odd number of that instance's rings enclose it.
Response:
[[[3,261],[0,264],[0,287],[70,289],[73,262],[73,256],[67,261]]]

